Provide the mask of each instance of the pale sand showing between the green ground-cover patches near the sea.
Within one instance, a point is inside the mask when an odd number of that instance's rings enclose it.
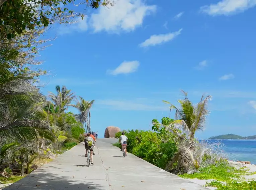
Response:
[[[243,164],[243,163],[240,163],[240,162],[234,162],[234,161],[229,161],[229,163],[231,165],[233,165],[234,167],[236,167],[237,169],[241,168],[241,167],[247,167],[249,168],[249,171],[248,172],[256,172],[256,166],[254,164]],[[246,181],[249,181],[249,180],[256,180],[256,174],[254,175],[246,175],[246,176],[243,176]],[[210,182],[211,180],[213,179],[187,179],[191,182],[194,182],[194,183],[197,183],[199,185],[202,185],[202,186],[205,186],[206,182]],[[217,189],[215,187],[206,187],[208,189],[211,189],[211,190],[214,190],[214,189]]]

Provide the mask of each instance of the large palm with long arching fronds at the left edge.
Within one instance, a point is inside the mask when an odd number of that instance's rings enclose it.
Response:
[[[31,79],[15,75],[6,62],[0,64],[0,141],[31,140],[38,136],[55,139],[41,106],[45,98],[31,85]]]

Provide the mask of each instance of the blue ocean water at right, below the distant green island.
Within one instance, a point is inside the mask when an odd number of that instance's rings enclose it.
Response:
[[[256,140],[208,140],[208,142],[220,141],[225,144],[223,149],[229,160],[250,161],[256,165]]]

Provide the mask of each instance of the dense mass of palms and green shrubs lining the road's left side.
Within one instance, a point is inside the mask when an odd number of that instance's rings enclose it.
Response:
[[[57,94],[47,101],[34,76],[11,67],[17,56],[0,59],[0,172],[6,177],[31,172],[35,161],[72,148],[85,132],[78,115],[65,112],[75,98],[71,90],[56,86]]]

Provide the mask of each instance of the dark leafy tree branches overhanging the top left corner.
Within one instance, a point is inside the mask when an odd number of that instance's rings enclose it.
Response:
[[[111,4],[109,0],[82,0],[92,8]],[[54,22],[68,23],[70,18],[83,15],[71,10],[75,0],[0,0],[0,36],[11,39],[25,30],[47,27]]]

